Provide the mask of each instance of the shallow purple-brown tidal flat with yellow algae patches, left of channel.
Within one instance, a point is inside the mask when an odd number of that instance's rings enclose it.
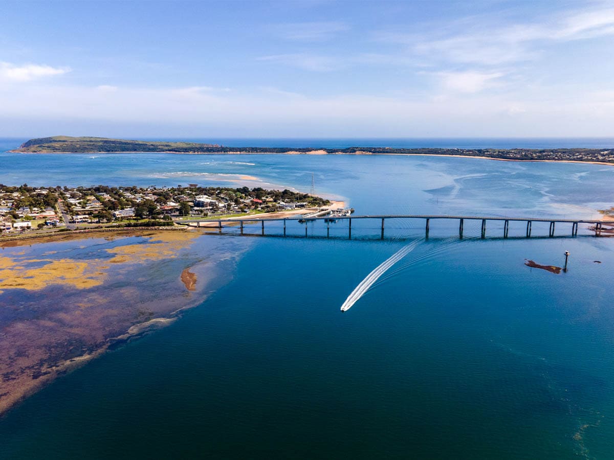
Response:
[[[0,244],[0,413],[203,302],[228,279],[241,250],[200,236],[139,232]]]

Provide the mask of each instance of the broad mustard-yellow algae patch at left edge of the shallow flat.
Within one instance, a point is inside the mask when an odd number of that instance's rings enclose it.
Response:
[[[44,261],[44,260],[43,260]],[[33,260],[30,262],[41,262]],[[26,269],[12,266],[0,269],[0,289],[38,290],[52,284],[70,285],[77,289],[99,286],[105,274],[96,271],[96,264],[71,259],[49,261],[42,267]]]

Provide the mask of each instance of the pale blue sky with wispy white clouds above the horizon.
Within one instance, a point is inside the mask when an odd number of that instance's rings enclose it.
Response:
[[[614,2],[0,2],[0,136],[610,137]]]

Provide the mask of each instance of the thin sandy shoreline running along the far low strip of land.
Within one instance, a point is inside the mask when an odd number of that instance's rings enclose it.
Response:
[[[554,149],[553,149],[554,150]],[[348,155],[348,156],[362,156],[362,155],[387,155],[387,156],[449,156],[453,158],[479,158],[479,159],[494,159],[496,161],[516,161],[518,163],[584,163],[584,164],[603,164],[607,166],[614,166],[614,161],[582,161],[578,159],[516,159],[516,158],[496,158],[494,156],[480,156],[480,155],[458,155],[453,153],[383,153],[383,152],[370,152],[370,151],[357,151],[356,153],[346,152],[327,152],[325,150],[312,150],[312,151],[285,151],[285,152],[253,152],[253,151],[211,151],[211,152],[189,152],[189,151],[93,151],[93,152],[76,152],[76,151],[17,151],[8,150],[7,153],[24,153],[26,155],[117,155],[122,153],[165,153],[171,155]]]

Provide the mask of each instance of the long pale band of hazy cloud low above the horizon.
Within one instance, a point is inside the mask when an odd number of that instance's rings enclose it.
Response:
[[[475,79],[478,83],[465,79],[462,84],[452,84],[465,90],[482,84],[481,77]],[[495,80],[492,77],[491,81]],[[570,132],[575,136],[607,136],[614,123],[611,91],[586,91],[565,98],[561,97],[567,93],[565,88],[535,88],[522,100],[514,93],[461,91],[440,99],[359,93],[316,97],[275,88],[196,91],[197,96],[193,91],[190,87],[124,86],[117,91],[101,91],[96,86],[36,83],[17,92],[0,86],[0,125],[15,131],[23,129],[23,120],[29,120],[29,129],[35,125],[44,130],[85,126],[94,133],[107,126],[114,132],[133,130],[133,136],[151,136],[153,127],[166,135],[185,136],[188,126],[193,134],[215,136],[279,136],[282,127],[290,137],[402,137],[569,136]]]

